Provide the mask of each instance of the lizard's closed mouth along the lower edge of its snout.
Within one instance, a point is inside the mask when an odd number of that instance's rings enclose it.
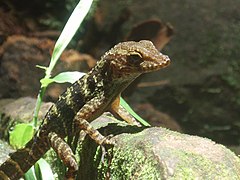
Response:
[[[170,59],[168,56],[164,55],[162,60],[145,60],[140,66],[143,72],[157,71],[159,69],[165,68],[170,64]]]

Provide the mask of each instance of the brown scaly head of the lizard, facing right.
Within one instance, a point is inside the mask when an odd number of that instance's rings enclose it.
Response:
[[[118,76],[156,71],[170,63],[169,57],[160,53],[148,40],[119,43],[103,58],[110,61],[113,73]]]

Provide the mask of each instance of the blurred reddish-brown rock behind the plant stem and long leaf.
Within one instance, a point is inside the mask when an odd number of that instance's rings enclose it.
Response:
[[[36,65],[48,66],[54,41],[48,38],[35,38],[23,35],[9,36],[0,46],[0,98],[36,97],[39,80],[44,71]],[[76,50],[65,50],[53,76],[62,71],[87,72],[95,63],[95,59]],[[69,84],[68,84],[69,85]],[[56,100],[65,86],[54,84],[49,86],[46,99]]]

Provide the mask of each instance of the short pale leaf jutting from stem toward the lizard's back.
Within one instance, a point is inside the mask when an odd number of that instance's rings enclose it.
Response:
[[[81,73],[78,71],[72,71],[72,72],[62,72],[58,75],[56,75],[52,80],[56,83],[74,83],[78,79],[80,79],[85,73]]]

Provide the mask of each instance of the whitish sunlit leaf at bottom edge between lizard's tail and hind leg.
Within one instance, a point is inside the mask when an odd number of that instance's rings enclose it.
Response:
[[[44,159],[39,159],[34,167],[37,179],[54,180],[52,169]]]

